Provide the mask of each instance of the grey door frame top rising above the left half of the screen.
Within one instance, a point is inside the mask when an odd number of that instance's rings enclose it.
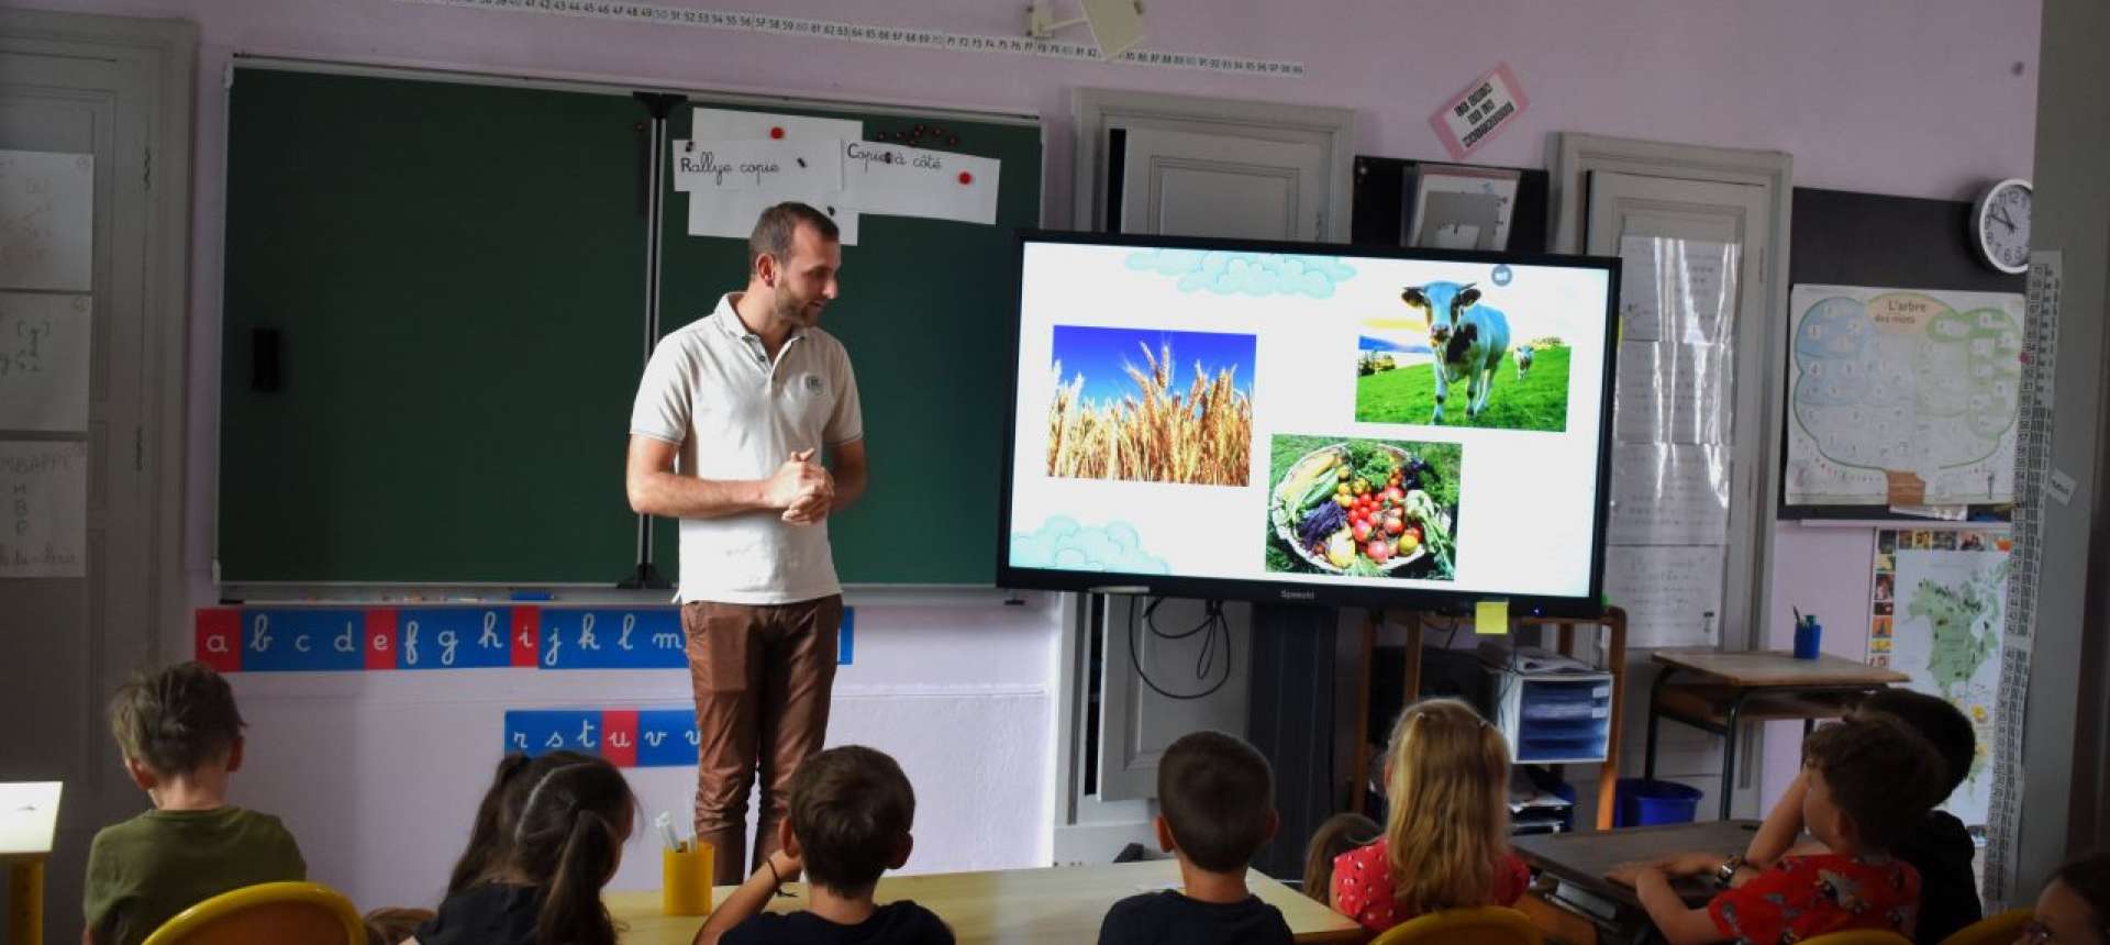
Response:
[[[1072,226],[1106,230],[1106,129],[1152,127],[1196,135],[1239,135],[1268,141],[1315,143],[1325,152],[1327,243],[1348,243],[1355,194],[1355,110],[1291,105],[1277,101],[1211,99],[1201,95],[1133,93],[1118,89],[1076,89],[1074,175],[1070,179]]]

